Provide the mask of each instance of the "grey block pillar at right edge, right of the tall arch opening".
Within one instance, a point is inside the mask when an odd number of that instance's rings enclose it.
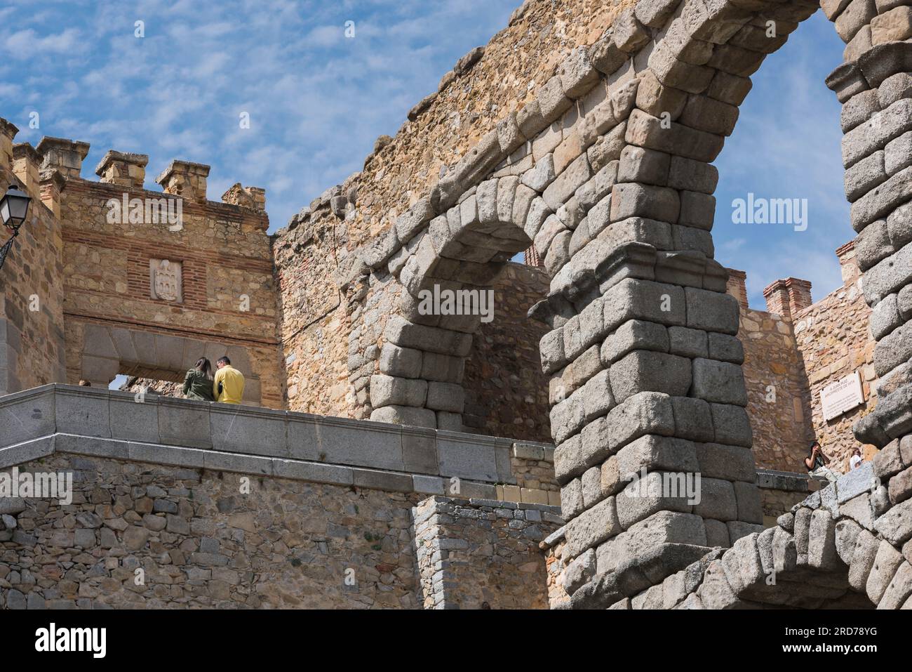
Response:
[[[878,448],[912,434],[912,43],[899,41],[912,29],[903,13],[907,7],[879,11],[870,47],[826,82],[843,103],[845,187],[858,234],[837,254],[844,277],[852,252],[863,273],[880,379],[876,408],[853,429]]]

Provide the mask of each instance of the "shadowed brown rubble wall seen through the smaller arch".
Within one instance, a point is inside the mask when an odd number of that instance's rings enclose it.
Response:
[[[544,268],[509,264],[494,285],[493,319],[472,339],[462,383],[467,431],[551,441],[548,378],[538,353],[547,327],[526,317],[548,283]]]

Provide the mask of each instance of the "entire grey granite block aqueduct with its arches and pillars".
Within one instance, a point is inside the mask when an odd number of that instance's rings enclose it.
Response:
[[[855,436],[881,452],[762,531],[738,307],[712,258],[710,162],[748,78],[821,5],[847,43],[827,85],[844,106],[846,194],[883,381]],[[389,272],[402,287],[371,418],[443,429],[460,426],[478,320],[420,315],[418,292],[490,284],[530,241],[544,258],[551,290],[530,315],[552,330],[541,355],[572,606],[912,605],[908,5],[640,0],[352,257],[343,284]],[[628,498],[621,477],[640,469],[648,496]],[[701,474],[700,503],[663,496],[677,472]]]

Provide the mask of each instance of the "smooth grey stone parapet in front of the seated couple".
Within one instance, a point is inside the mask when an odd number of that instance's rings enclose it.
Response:
[[[5,466],[62,451],[529,503],[549,503],[554,488],[545,476],[530,487],[550,464],[547,446],[155,394],[45,385],[5,395],[0,420]]]

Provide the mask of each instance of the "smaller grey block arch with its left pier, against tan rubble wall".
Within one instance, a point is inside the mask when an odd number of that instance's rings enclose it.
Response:
[[[429,312],[422,299],[472,292],[463,296],[481,301],[506,262],[532,244],[523,230],[529,210],[550,213],[534,204],[537,196],[517,176],[486,180],[431,219],[409,244],[414,254],[390,267],[402,315],[387,323],[370,380],[372,420],[461,431],[462,374],[482,316]]]

